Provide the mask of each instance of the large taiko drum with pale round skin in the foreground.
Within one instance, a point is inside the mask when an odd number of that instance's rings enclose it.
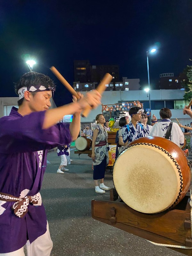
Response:
[[[125,204],[143,213],[170,209],[186,195],[191,171],[184,152],[172,141],[144,137],[117,157],[113,181]]]

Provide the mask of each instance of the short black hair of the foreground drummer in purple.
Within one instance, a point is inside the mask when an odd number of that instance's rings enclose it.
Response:
[[[29,87],[30,85],[43,85],[45,88],[55,88],[53,80],[44,74],[30,71],[22,75],[17,83],[15,83],[15,92],[18,95],[18,90],[22,87]],[[32,92],[33,96],[36,92]],[[24,98],[18,100],[18,106],[22,105]]]

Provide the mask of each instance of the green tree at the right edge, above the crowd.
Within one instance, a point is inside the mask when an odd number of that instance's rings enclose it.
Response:
[[[192,66],[187,66],[183,70],[183,73],[187,76],[187,79],[182,81],[181,85],[185,88],[184,100],[192,99]]]

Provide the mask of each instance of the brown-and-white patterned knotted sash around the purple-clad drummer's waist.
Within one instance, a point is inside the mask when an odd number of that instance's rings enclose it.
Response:
[[[38,204],[39,196],[25,196],[20,198],[0,192],[0,200],[6,202],[15,202],[12,206],[12,210],[17,217],[23,218],[28,212],[29,203]]]

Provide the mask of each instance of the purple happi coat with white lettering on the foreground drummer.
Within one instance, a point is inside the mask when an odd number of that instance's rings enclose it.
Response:
[[[12,108],[9,116],[0,118],[0,192],[16,197],[34,196],[42,185],[48,149],[71,142],[68,124],[57,124],[43,130],[45,111],[21,116]],[[0,253],[32,243],[46,232],[47,218],[41,198],[29,204],[21,219],[11,210],[14,202],[0,199]]]

